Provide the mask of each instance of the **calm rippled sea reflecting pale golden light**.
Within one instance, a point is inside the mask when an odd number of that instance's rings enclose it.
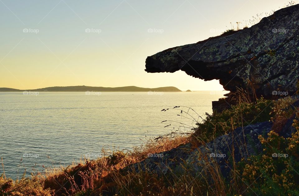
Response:
[[[42,172],[44,167],[69,165],[84,155],[95,159],[102,148],[131,149],[149,136],[190,131],[179,127],[179,122],[192,125],[192,120],[177,116],[181,111],[172,108],[191,107],[204,117],[212,112],[211,102],[223,94],[0,92],[0,156],[6,176],[17,179],[25,169],[27,174]],[[164,108],[170,109],[161,112]]]

